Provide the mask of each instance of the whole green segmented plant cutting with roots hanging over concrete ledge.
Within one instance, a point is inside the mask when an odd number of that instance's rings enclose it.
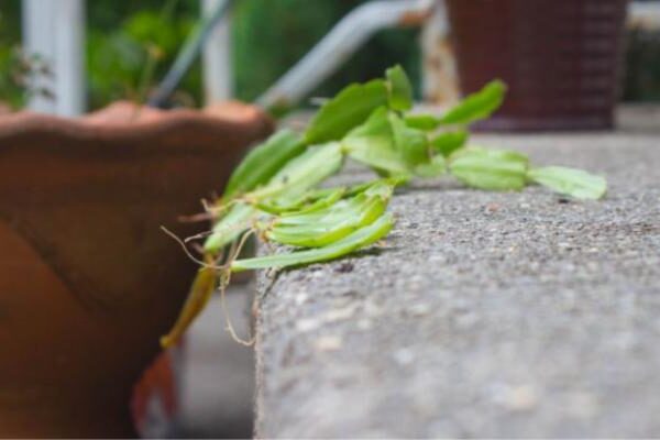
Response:
[[[205,238],[202,256],[196,257],[201,267],[162,344],[178,340],[213,292],[223,292],[232,273],[326,262],[381,241],[395,222],[387,212],[393,193],[411,179],[449,174],[483,190],[519,191],[538,184],[576,199],[603,197],[603,177],[561,166],[535,167],[522,153],[469,142],[470,124],[497,110],[505,92],[506,86],[494,80],[441,117],[411,113],[410,82],[395,66],[382,79],[344,88],[302,133],[283,129],[254,147],[222,197],[207,207],[212,230],[186,240]],[[378,177],[323,187],[346,160]],[[238,258],[253,234],[282,246],[270,255]]]

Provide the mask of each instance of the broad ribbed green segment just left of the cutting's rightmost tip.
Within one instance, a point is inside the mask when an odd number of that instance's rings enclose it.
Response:
[[[450,158],[449,169],[473,188],[505,191],[520,190],[527,182],[528,158],[508,150],[468,147]]]

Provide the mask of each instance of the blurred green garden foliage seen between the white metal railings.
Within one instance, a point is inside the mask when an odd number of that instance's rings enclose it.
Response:
[[[343,15],[365,0],[240,0],[232,13],[232,95],[254,100],[306,54]],[[641,0],[640,2],[645,2]],[[646,1],[648,2],[648,0]],[[650,3],[650,2],[649,2]],[[294,12],[295,11],[295,12]],[[90,0],[85,8],[88,110],[131,99],[161,79],[200,14],[198,0]],[[29,94],[25,76],[47,66],[21,52],[21,0],[0,0],[0,97],[21,108]],[[419,28],[378,32],[312,92],[330,96],[342,85],[381,75],[402,64],[420,97]],[[267,44],[264,44],[267,42]],[[156,57],[150,82],[144,66]],[[28,58],[28,59],[26,59]],[[660,100],[660,36],[648,26],[630,26],[620,78],[624,101]],[[176,101],[199,106],[204,95],[198,58],[177,89]]]

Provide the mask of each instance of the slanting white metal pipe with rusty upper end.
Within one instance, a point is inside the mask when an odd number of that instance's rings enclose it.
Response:
[[[273,108],[299,102],[377,31],[420,25],[435,4],[436,0],[377,0],[355,8],[261,96],[257,105]]]

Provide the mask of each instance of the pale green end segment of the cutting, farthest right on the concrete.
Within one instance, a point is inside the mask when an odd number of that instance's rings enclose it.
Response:
[[[597,200],[607,193],[607,182],[603,177],[582,169],[547,166],[532,168],[527,176],[537,184],[576,199]]]

